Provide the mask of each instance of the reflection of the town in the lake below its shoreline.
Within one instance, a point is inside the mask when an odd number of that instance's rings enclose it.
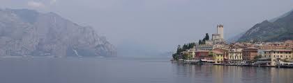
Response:
[[[213,66],[173,64],[177,78],[187,82],[214,83],[291,83],[292,68],[269,68],[251,66]],[[188,78],[188,79],[186,79]],[[185,81],[186,82],[186,81]]]

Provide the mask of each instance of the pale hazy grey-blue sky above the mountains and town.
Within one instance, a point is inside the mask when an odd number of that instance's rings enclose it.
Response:
[[[115,46],[134,44],[172,50],[216,33],[224,24],[233,37],[293,9],[292,0],[0,0],[1,8],[56,12],[93,26]]]

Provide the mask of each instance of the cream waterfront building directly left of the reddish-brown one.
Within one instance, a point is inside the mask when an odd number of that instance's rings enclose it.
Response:
[[[228,59],[232,64],[241,63],[242,57],[242,49],[241,48],[232,48],[228,51]]]

